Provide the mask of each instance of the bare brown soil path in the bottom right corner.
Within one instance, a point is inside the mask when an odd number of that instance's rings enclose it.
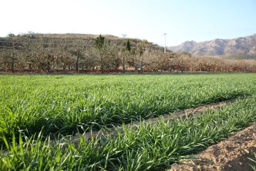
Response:
[[[255,159],[256,125],[230,136],[219,144],[210,146],[192,161],[172,167],[169,171],[253,171]]]

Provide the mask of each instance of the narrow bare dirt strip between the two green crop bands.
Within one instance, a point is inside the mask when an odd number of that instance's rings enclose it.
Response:
[[[235,100],[236,99],[225,100],[225,101],[222,101],[222,102],[219,102],[219,103],[213,103],[213,104],[210,104],[210,105],[198,106],[196,108],[186,109],[186,110],[183,110],[183,111],[178,110],[174,113],[164,114],[164,115],[161,115],[159,117],[162,117],[165,120],[173,120],[174,117],[177,117],[177,118],[180,118],[180,119],[186,119],[186,117],[189,117],[191,115],[200,114],[204,110],[218,109],[218,108],[222,107],[225,104],[234,102]],[[154,118],[145,120],[145,122],[149,122],[149,123],[153,124],[159,119],[159,117],[154,117]],[[141,121],[135,121],[135,122],[126,124],[125,126],[127,126],[127,127],[128,126],[136,126],[136,125],[141,124],[141,123],[142,123]],[[112,127],[112,128],[109,128],[109,129],[102,128],[100,131],[87,132],[87,133],[82,134],[81,136],[84,136],[85,138],[87,138],[87,140],[91,140],[92,137],[95,138],[95,137],[103,137],[105,134],[116,134],[118,127],[120,127],[120,126]],[[80,140],[79,133],[77,133],[77,134],[75,134],[75,136],[73,136],[73,143],[77,144],[77,141],[79,141],[79,140]]]

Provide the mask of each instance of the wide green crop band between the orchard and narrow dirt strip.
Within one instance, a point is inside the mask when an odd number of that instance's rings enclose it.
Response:
[[[73,134],[253,95],[256,75],[0,75],[0,143]],[[42,129],[43,128],[43,129]]]

